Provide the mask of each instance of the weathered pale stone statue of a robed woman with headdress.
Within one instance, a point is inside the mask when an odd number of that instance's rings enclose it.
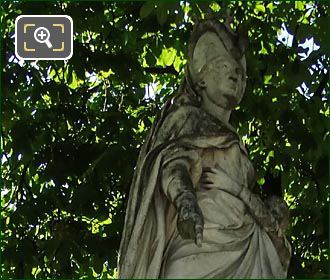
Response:
[[[252,193],[254,169],[229,124],[245,85],[240,36],[196,23],[183,82],[140,151],[119,278],[286,277],[287,206]]]

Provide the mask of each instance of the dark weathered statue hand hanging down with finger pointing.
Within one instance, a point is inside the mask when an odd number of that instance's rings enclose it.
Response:
[[[183,239],[192,239],[198,247],[202,246],[204,218],[196,195],[184,192],[176,199],[178,220],[177,227]]]

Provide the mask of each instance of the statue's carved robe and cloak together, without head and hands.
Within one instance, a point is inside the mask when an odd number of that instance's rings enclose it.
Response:
[[[143,145],[135,170],[119,278],[285,278],[287,267],[245,203],[199,184],[203,167],[220,166],[231,183],[253,186],[253,167],[237,133],[190,104],[168,102],[165,112]],[[168,170],[177,162],[186,166],[203,212],[202,247],[177,232],[168,188],[175,179]]]

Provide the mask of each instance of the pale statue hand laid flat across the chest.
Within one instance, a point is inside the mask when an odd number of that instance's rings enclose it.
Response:
[[[220,166],[203,168],[201,183],[205,188],[217,188],[234,196],[239,196],[243,185],[228,176]]]

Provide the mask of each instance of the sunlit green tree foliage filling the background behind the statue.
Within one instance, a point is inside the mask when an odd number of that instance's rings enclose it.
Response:
[[[257,189],[290,205],[289,277],[327,278],[327,5],[3,2],[4,277],[116,276],[139,147],[180,83],[194,16],[230,9],[233,27],[249,35],[247,90],[231,122],[250,152]],[[70,15],[73,57],[19,61],[13,36],[20,14]],[[292,43],[279,40],[284,29]]]

